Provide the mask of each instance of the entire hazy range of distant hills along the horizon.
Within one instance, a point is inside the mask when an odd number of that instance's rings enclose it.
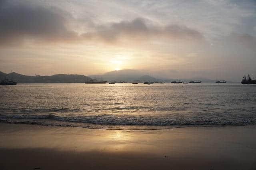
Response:
[[[156,78],[151,75],[146,74],[145,72],[138,71],[138,70],[119,70],[119,71],[110,71],[104,73],[102,75],[90,75],[89,77],[84,75],[77,75],[77,74],[56,74],[51,76],[29,76],[29,75],[22,75],[15,72],[10,74],[6,74],[0,71],[0,80],[7,77],[8,79],[13,79],[17,83],[84,83],[85,81],[90,81],[91,79],[100,81],[101,78],[103,81],[127,81],[127,82],[144,82],[144,81],[163,81],[163,82],[171,82],[175,79],[168,79],[168,78]],[[160,77],[160,76],[159,76]],[[180,79],[180,81],[197,81],[200,80],[202,83],[214,83],[216,80],[194,77],[191,79]],[[227,81],[228,83],[232,83],[231,81]]]

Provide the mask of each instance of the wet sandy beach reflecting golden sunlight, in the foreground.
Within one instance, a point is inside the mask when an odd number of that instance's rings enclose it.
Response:
[[[256,126],[101,130],[0,123],[0,170],[256,170]]]

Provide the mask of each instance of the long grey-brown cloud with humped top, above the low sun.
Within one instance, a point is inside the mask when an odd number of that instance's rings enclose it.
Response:
[[[114,42],[120,38],[166,38],[172,40],[203,39],[203,36],[200,32],[186,26],[154,26],[147,24],[143,18],[136,18],[132,21],[112,23],[108,26],[98,26],[96,32],[88,32],[82,36],[87,39],[98,38],[107,42]]]

